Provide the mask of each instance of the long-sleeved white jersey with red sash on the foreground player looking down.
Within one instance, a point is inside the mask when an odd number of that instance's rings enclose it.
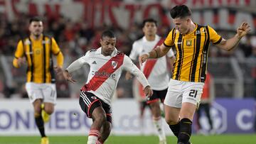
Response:
[[[78,59],[81,64],[87,63],[90,65],[88,79],[81,88],[82,91],[91,92],[110,105],[122,70],[127,70],[137,75],[139,82],[142,82],[144,87],[149,85],[142,72],[127,55],[114,49],[112,55],[104,56],[101,54],[101,50],[102,48],[90,50]]]

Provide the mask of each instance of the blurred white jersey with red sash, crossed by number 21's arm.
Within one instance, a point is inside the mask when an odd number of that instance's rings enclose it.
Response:
[[[132,60],[137,60],[139,55],[150,52],[156,46],[161,45],[164,42],[158,35],[155,40],[148,41],[146,37],[136,40],[132,45],[132,51],[129,57]],[[166,54],[167,57],[173,57],[174,52],[169,50]],[[169,74],[167,71],[166,57],[160,57],[158,59],[149,59],[144,62],[141,70],[144,72],[145,77],[148,79],[151,88],[154,90],[163,90],[168,87]]]

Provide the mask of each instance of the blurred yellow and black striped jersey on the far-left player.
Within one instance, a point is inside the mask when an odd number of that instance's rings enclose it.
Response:
[[[13,64],[18,67],[18,57],[26,57],[27,82],[53,83],[55,76],[52,54],[57,56],[57,65],[62,67],[63,54],[54,38],[41,35],[41,38],[34,40],[28,37],[19,40]]]

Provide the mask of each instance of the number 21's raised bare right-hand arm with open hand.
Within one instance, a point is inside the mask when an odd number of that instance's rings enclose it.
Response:
[[[233,50],[236,45],[238,45],[240,39],[245,36],[250,31],[250,25],[248,23],[242,23],[241,26],[238,27],[237,33],[233,38],[230,38],[228,40],[221,40],[221,42],[217,45],[218,48],[221,48],[223,50]]]

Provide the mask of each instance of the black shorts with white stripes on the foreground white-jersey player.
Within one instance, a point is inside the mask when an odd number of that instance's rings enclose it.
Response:
[[[95,108],[102,106],[106,113],[107,121],[112,123],[112,111],[111,106],[106,104],[104,101],[99,99],[95,94],[90,92],[80,92],[79,104],[82,109],[86,113],[88,118],[92,118],[92,112]]]

